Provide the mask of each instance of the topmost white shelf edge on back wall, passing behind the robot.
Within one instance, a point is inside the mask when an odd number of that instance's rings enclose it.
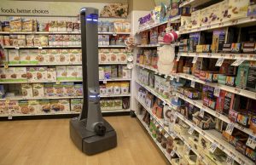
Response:
[[[9,32],[9,31],[0,31],[0,34],[81,34],[80,31],[19,31],[19,32]],[[119,35],[126,34],[130,35],[131,32],[98,32],[98,34],[105,35]]]

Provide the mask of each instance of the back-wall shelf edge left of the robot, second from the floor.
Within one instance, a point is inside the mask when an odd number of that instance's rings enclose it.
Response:
[[[65,99],[82,99],[83,96],[44,96],[44,97],[32,97],[32,98],[26,98],[22,96],[15,96],[15,97],[6,97],[3,99],[0,99],[0,101],[9,101],[9,100],[65,100]]]

